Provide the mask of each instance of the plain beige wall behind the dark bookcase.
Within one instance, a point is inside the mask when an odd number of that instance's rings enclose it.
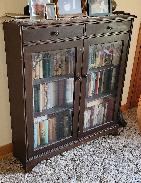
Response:
[[[137,35],[139,30],[139,24],[141,20],[141,1],[140,0],[116,0],[118,7],[117,10],[124,10],[138,16],[134,23],[134,30],[129,54],[129,61],[127,66],[127,74],[125,80],[125,87],[123,91],[123,101],[125,104],[128,96],[128,89],[130,85],[130,78],[132,72],[132,65],[134,61],[134,54],[137,42]],[[0,16],[5,12],[20,13],[23,11],[23,7],[26,5],[26,0],[0,0]],[[9,93],[7,82],[7,69],[6,59],[4,51],[4,38],[3,29],[0,24],[0,146],[9,144],[11,139],[11,119],[10,119],[10,106],[9,106]]]

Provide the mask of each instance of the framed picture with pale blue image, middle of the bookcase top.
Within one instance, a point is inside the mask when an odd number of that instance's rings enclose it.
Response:
[[[59,17],[82,14],[81,0],[58,0],[57,10]]]

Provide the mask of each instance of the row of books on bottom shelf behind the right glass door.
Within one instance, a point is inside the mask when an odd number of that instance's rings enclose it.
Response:
[[[84,130],[113,120],[114,100],[105,98],[88,104],[84,112]]]

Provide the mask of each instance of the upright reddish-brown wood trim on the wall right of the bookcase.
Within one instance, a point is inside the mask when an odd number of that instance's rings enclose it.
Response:
[[[134,57],[130,88],[129,88],[128,98],[127,98],[128,108],[136,107],[138,104],[140,91],[139,91],[139,88],[137,87],[137,82],[139,80],[139,75],[140,75],[139,72],[141,72],[140,71],[141,66],[139,64],[140,62],[141,62],[141,24],[140,24],[139,34],[138,34],[138,41],[137,41],[136,52]]]

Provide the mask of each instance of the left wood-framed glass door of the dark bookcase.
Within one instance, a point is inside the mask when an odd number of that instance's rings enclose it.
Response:
[[[62,146],[77,136],[80,81],[76,75],[81,71],[82,43],[25,49],[29,156]]]

